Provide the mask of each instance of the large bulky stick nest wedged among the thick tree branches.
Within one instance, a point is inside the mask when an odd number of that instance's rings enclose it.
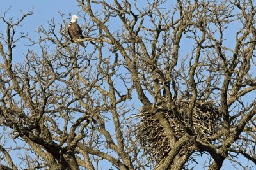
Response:
[[[175,104],[179,117],[173,115],[172,111],[163,111],[162,113],[170,122],[174,138],[177,141],[185,134],[184,124],[188,123],[186,122],[188,120],[186,113],[188,113],[189,100],[178,99]],[[164,102],[157,103],[156,108],[170,108],[170,104]],[[141,122],[137,127],[138,139],[145,151],[149,153],[150,159],[160,162],[170,152],[169,139],[157,118],[150,111],[142,108],[139,115]],[[192,122],[193,129],[198,138],[209,142],[207,136],[214,134],[218,130],[220,120],[218,108],[213,101],[196,102],[193,108]],[[188,150],[195,150],[192,143],[184,145],[179,154],[186,154]]]

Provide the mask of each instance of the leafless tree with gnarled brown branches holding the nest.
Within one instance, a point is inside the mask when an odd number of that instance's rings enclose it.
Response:
[[[33,11],[17,21],[1,16],[0,125],[8,129],[3,139],[16,143],[8,150],[1,141],[1,168],[18,168],[12,150],[26,150],[20,167],[27,169],[92,170],[101,162],[116,169],[189,169],[195,153],[211,156],[209,165],[202,164],[209,169],[220,169],[224,160],[255,166],[256,3],[77,4],[85,48],[70,41],[70,16],[60,13],[63,22],[38,27],[38,40],[29,39],[24,62],[15,65],[13,48],[27,37],[17,38],[17,30]],[[40,50],[31,50],[35,46]],[[188,101],[185,115],[180,99]],[[138,101],[166,136],[169,149],[160,161],[137,138]],[[207,101],[214,101],[220,117],[218,124],[212,121],[217,130],[202,136],[195,108]],[[181,137],[165,113],[177,120]]]

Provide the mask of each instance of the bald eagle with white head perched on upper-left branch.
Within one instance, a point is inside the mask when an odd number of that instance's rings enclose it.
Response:
[[[79,45],[85,47],[83,42],[79,42],[84,36],[81,27],[77,24],[77,19],[78,17],[76,15],[72,16],[72,20],[68,24],[68,35],[75,43],[79,43]]]

